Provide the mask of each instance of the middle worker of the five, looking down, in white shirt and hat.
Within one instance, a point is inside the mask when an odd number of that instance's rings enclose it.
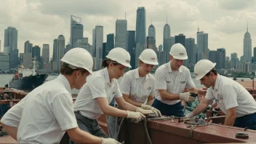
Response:
[[[158,65],[157,55],[152,49],[145,49],[141,53],[140,67],[128,71],[121,79],[120,91],[127,103],[131,103],[145,110],[152,110],[156,116],[161,116],[161,112],[151,107],[156,94],[156,79],[150,73],[154,65]],[[148,104],[148,105],[146,105]],[[108,135],[116,138],[119,128],[117,117],[108,116]]]

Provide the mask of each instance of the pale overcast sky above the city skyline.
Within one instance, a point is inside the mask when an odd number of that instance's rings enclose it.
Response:
[[[84,37],[92,44],[92,29],[103,25],[104,41],[108,33],[115,33],[116,19],[124,19],[127,30],[135,31],[137,7],[145,7],[146,29],[156,28],[157,47],[163,41],[163,28],[168,16],[171,36],[184,33],[196,39],[197,26],[208,33],[209,49],[224,47],[226,56],[237,52],[243,55],[244,33],[249,24],[253,47],[256,47],[255,0],[0,0],[0,40],[4,50],[4,29],[17,28],[20,52],[25,41],[42,48],[49,44],[52,55],[53,39],[63,34],[65,44],[70,39],[70,17],[82,18]],[[50,56],[51,57],[51,56]]]

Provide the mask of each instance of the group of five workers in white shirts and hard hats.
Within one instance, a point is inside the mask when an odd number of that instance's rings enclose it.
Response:
[[[159,63],[152,49],[140,54],[139,68],[124,73],[127,67],[131,68],[129,52],[114,48],[103,60],[103,69],[92,73],[92,55],[85,49],[73,48],[61,59],[63,65],[57,79],[28,93],[7,111],[1,124],[18,143],[60,143],[67,132],[70,143],[119,144],[115,140],[117,117],[135,122],[148,114],[191,118],[216,100],[226,115],[225,125],[256,129],[256,102],[244,87],[220,76],[215,63],[200,60],[194,73],[208,89],[196,88],[190,71],[183,66],[188,59],[185,47],[174,44],[169,54],[169,63],[157,68],[155,76],[150,72]],[[80,89],[74,104],[73,88]],[[191,92],[205,97],[185,116],[181,101],[193,102]],[[97,122],[103,113],[108,115],[109,136]]]

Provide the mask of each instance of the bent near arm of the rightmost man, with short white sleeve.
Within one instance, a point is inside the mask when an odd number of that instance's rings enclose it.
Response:
[[[224,103],[227,110],[224,125],[233,126],[236,120],[236,107],[239,106],[236,89],[231,84],[224,84],[220,89],[222,89],[220,95],[223,96],[223,100],[219,100],[219,103]]]

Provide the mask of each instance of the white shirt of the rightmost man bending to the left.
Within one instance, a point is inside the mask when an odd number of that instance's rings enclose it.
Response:
[[[225,76],[217,75],[215,87],[207,89],[206,98],[216,100],[220,110],[227,114],[229,108],[236,108],[236,116],[245,116],[256,112],[256,102],[241,84]]]

